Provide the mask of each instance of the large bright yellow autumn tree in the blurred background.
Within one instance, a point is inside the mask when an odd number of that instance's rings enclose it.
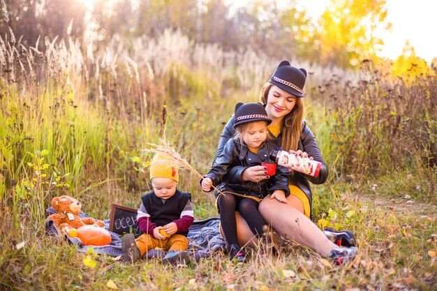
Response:
[[[383,40],[376,31],[390,29],[386,0],[329,0],[318,20],[320,63],[352,67],[376,55]]]

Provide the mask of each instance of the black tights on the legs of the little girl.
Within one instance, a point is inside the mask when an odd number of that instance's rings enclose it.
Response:
[[[264,233],[262,227],[265,222],[258,212],[258,202],[255,200],[226,193],[218,198],[218,209],[220,209],[221,228],[228,244],[238,245],[235,210],[239,211],[253,234],[260,237]]]

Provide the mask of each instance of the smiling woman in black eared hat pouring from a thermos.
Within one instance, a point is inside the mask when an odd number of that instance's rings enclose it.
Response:
[[[355,235],[350,231],[322,232],[311,221],[312,195],[309,182],[325,183],[328,168],[313,133],[304,121],[302,98],[305,80],[306,70],[290,66],[288,61],[281,61],[269,82],[262,87],[260,102],[264,104],[269,119],[272,119],[268,129],[274,142],[290,153],[313,158],[322,163],[322,167],[318,177],[292,172],[288,179],[290,195],[286,198],[286,202],[266,197],[260,202],[259,211],[262,218],[282,237],[309,246],[320,255],[341,262],[343,258],[353,258],[357,253],[357,248],[354,247]],[[223,151],[225,143],[235,134],[234,123],[235,117],[225,125],[214,162]],[[262,166],[235,166],[229,170],[227,179],[230,183],[259,182],[267,179],[267,174],[265,167]],[[246,244],[253,239],[253,232],[238,214],[237,226],[240,244]]]

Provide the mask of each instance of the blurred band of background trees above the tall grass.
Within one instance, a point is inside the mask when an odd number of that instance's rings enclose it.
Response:
[[[179,29],[195,43],[218,43],[224,50],[250,48],[276,59],[350,68],[375,56],[382,44],[376,30],[390,29],[385,0],[332,0],[317,21],[294,0],[284,2],[0,0],[0,35],[10,28],[22,44],[35,45],[38,36],[68,32],[106,45],[117,35],[158,38],[165,29]]]

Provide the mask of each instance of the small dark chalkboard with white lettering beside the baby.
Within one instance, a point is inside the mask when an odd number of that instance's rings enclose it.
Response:
[[[135,236],[142,234],[137,225],[137,209],[112,204],[110,231],[117,234],[132,233]]]

